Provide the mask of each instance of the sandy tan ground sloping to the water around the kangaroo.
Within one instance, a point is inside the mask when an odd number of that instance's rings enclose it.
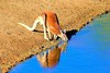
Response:
[[[70,37],[98,15],[110,11],[110,0],[0,0],[0,68],[6,73],[15,65],[42,51],[58,40],[47,41],[43,38],[43,27],[40,32],[29,32],[18,25],[22,22],[32,26],[34,20],[43,11],[57,14],[62,28],[67,29]]]

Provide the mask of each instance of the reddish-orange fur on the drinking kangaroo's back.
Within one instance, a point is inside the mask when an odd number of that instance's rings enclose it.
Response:
[[[46,26],[50,29],[50,32],[54,35],[59,35],[61,34],[61,27],[58,24],[58,20],[56,17],[56,14],[53,12],[44,12],[46,15]]]

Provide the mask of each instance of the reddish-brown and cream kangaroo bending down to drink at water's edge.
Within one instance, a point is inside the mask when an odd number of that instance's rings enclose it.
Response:
[[[66,36],[66,33],[62,31],[59,24],[58,24],[58,19],[56,16],[56,14],[54,12],[43,12],[33,23],[33,26],[30,27],[23,23],[18,23],[20,25],[22,25],[23,27],[25,27],[29,31],[34,31],[37,24],[43,25],[44,28],[44,38],[50,40],[52,39],[52,35],[54,35],[54,39],[58,37],[61,37],[64,41],[67,41],[68,38]],[[46,32],[48,33],[48,36],[46,34]]]

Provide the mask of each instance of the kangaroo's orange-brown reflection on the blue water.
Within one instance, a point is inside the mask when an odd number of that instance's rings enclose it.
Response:
[[[55,66],[61,58],[61,53],[65,51],[67,42],[63,44],[62,46],[55,46],[43,53],[37,54],[37,60],[40,61],[41,65],[44,68],[53,68]]]

